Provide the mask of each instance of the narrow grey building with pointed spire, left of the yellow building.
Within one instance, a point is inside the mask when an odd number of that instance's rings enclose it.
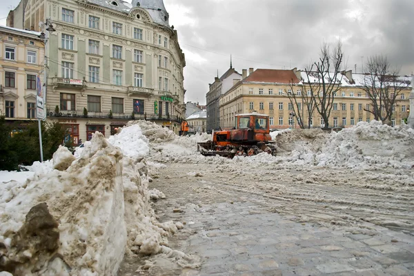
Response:
[[[220,113],[219,113],[219,98],[225,94],[228,89],[233,87],[235,81],[240,81],[242,75],[239,74],[230,63],[230,68],[220,78],[217,76],[214,83],[209,85],[208,93],[206,95],[206,110],[207,110],[207,131],[219,129]]]

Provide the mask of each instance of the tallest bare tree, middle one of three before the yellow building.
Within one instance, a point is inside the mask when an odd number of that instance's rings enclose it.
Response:
[[[322,129],[329,129],[329,117],[333,100],[341,88],[341,71],[344,69],[344,52],[342,43],[338,41],[333,47],[324,43],[321,46],[319,61],[305,68],[304,87],[311,92],[315,107],[324,120]]]

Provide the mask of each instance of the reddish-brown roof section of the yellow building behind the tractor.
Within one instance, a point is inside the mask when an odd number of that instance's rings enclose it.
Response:
[[[293,70],[257,69],[243,80],[244,83],[299,83]]]

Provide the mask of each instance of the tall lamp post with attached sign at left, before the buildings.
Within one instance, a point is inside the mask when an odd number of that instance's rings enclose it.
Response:
[[[46,90],[48,87],[48,40],[49,34],[55,32],[52,25],[52,19],[46,19],[46,23],[39,22],[39,27],[42,32],[39,38],[45,45],[44,59],[43,59],[43,87],[40,85],[40,78],[38,78],[37,90],[37,121],[39,123],[39,145],[40,145],[40,161],[43,162],[43,145],[41,138],[41,120],[46,120]],[[42,91],[43,89],[43,91]],[[42,93],[43,92],[43,93]]]

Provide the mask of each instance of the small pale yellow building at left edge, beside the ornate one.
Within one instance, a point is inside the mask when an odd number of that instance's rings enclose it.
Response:
[[[36,79],[43,80],[43,44],[38,32],[0,26],[0,114],[6,122],[37,117]]]

